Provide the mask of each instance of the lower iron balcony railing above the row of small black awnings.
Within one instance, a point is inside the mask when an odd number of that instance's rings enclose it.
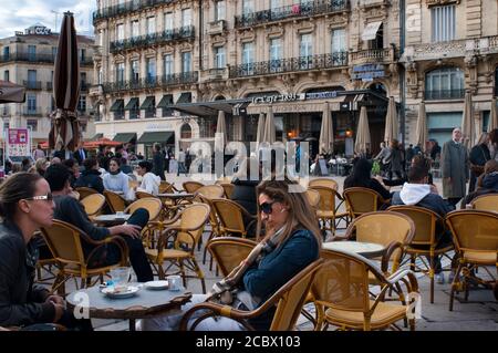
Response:
[[[172,85],[197,83],[198,80],[199,73],[197,71],[181,72],[163,76],[151,76],[139,80],[107,82],[103,84],[103,91],[104,93],[112,93],[123,91],[162,89]]]

